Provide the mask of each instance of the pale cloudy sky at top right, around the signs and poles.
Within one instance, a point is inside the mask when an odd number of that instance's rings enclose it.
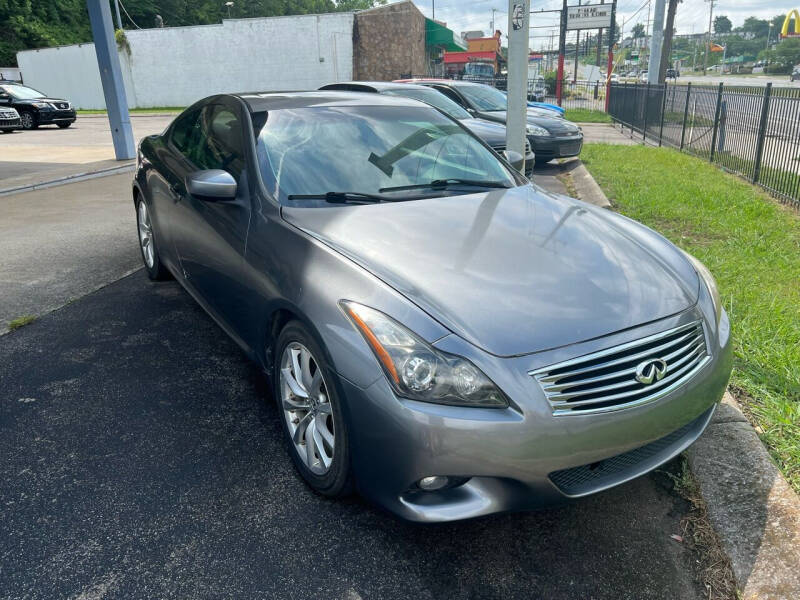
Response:
[[[606,0],[610,3],[611,0]],[[492,9],[495,13],[495,28],[504,34],[508,28],[507,0],[415,0],[417,7],[430,17],[432,4],[436,6],[436,19],[446,21],[448,27],[456,33],[481,29],[489,34],[492,20]],[[600,0],[583,0],[581,4],[599,4]],[[578,0],[569,0],[570,5],[577,5]],[[531,0],[531,10],[560,9],[563,0]],[[653,0],[655,6],[655,0]],[[640,7],[644,7],[637,12]],[[776,14],[785,14],[792,8],[800,9],[800,0],[719,0],[714,3],[714,15],[727,15],[733,25],[741,25],[749,16],[771,18]],[[617,22],[624,24],[624,31],[629,32],[635,23],[647,21],[648,3],[646,0],[617,0]],[[704,0],[683,0],[678,4],[676,26],[678,33],[700,33],[708,29],[709,3]],[[652,20],[652,15],[651,15]],[[536,26],[534,28],[534,26]],[[545,26],[539,28],[539,26]],[[550,43],[551,33],[558,35],[558,13],[531,15],[531,47],[539,48]],[[505,38],[503,43],[505,44]]]

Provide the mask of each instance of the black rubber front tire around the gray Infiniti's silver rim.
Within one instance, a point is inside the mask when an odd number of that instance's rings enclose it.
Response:
[[[286,346],[292,342],[298,342],[308,348],[317,363],[317,367],[322,369],[326,391],[328,392],[328,401],[331,403],[333,411],[336,443],[333,450],[333,462],[328,472],[324,475],[312,473],[303,462],[303,459],[298,455],[294,443],[292,442],[291,434],[289,433],[289,425],[286,423],[286,417],[281,404],[281,358]],[[342,394],[338,388],[338,380],[330,364],[328,364],[325,353],[322,351],[316,338],[308,331],[303,323],[300,321],[290,321],[281,330],[278,336],[273,356],[275,357],[275,364],[272,373],[272,391],[278,409],[278,418],[281,421],[284,441],[286,442],[287,450],[292,457],[295,468],[316,492],[330,497],[347,495],[352,489],[347,423],[344,418],[341,400]]]

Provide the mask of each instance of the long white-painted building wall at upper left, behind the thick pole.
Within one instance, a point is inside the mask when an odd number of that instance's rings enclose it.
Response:
[[[353,77],[353,13],[231,19],[126,31],[131,107],[188,106],[221,92],[307,90]],[[79,108],[104,108],[93,44],[17,53],[25,83]]]

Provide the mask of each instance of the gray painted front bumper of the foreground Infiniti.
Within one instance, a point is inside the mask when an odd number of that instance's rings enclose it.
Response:
[[[529,510],[638,477],[694,442],[711,419],[731,369],[727,316],[709,335],[711,360],[671,394],[611,413],[554,416],[531,369],[625,343],[697,319],[687,311],[631,332],[568,349],[499,358],[447,336],[443,350],[466,355],[511,398],[507,409],[441,406],[397,398],[384,378],[367,388],[342,380],[359,490],[396,515],[435,522]],[[422,492],[422,477],[468,478]]]

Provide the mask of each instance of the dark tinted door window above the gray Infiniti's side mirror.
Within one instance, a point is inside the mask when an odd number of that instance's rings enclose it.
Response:
[[[238,179],[244,168],[242,134],[242,123],[231,109],[210,104],[193,119],[176,123],[172,143],[198,169],[222,169]]]

